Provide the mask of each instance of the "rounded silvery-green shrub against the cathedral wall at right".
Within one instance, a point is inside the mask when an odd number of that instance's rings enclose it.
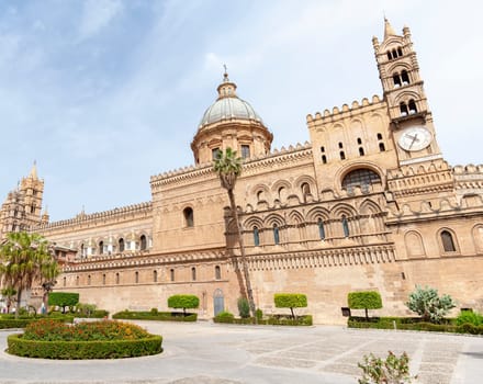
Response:
[[[409,294],[406,306],[418,314],[424,321],[439,323],[456,303],[449,295],[438,296],[438,291],[425,286],[422,289],[416,285],[416,291]]]

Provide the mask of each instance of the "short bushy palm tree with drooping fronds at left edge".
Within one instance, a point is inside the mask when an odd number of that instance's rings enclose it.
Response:
[[[53,264],[57,264],[57,261],[48,242],[37,234],[10,233],[0,248],[0,276],[3,286],[16,290],[19,307],[23,291],[32,289],[34,282],[48,279],[52,271],[58,273]],[[15,310],[15,317],[19,316],[19,309]]]

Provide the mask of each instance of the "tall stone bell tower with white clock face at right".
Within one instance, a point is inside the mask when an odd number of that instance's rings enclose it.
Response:
[[[384,19],[384,39],[372,45],[400,166],[440,159],[409,29],[397,35]]]

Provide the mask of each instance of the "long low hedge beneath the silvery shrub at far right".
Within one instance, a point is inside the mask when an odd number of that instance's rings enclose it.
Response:
[[[349,328],[394,329],[394,321],[396,329],[483,335],[483,326],[468,323],[456,325],[449,319],[446,324],[433,324],[413,317],[372,317],[369,321],[364,317],[349,317],[347,326]]]

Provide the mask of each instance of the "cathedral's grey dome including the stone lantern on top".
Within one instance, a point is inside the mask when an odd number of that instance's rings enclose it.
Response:
[[[205,125],[229,120],[251,120],[262,123],[254,108],[245,100],[236,95],[236,84],[224,74],[223,82],[217,88],[218,98],[204,112],[200,122],[200,128]]]

